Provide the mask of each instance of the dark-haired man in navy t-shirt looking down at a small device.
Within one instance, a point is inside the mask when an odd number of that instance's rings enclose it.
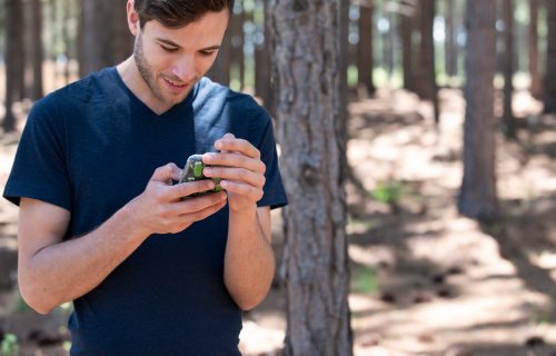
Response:
[[[238,355],[241,309],[274,275],[286,196],[268,115],[202,78],[232,0],[129,0],[133,55],[33,107],[4,197],[20,205],[19,284],[73,300],[72,355]],[[205,154],[208,152],[208,154]],[[212,180],[173,184],[191,154]]]

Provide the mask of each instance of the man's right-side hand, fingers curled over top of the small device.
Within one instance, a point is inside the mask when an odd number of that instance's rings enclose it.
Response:
[[[266,166],[260,152],[249,141],[226,134],[215,142],[218,154],[205,154],[202,161],[210,166],[203,174],[221,178],[220,186],[228,192],[231,211],[256,211],[257,201],[262,198]]]

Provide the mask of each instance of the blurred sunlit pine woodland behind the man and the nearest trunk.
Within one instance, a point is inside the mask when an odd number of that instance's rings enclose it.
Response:
[[[125,2],[0,0],[2,189],[32,103],[130,55]],[[307,36],[339,48],[345,169],[341,185],[327,188],[347,192],[346,234],[332,236],[346,239],[349,257],[338,267],[349,278],[346,347],[556,355],[556,1],[332,2],[332,34]],[[295,123],[285,119],[279,78],[299,63],[277,66],[277,1],[236,0],[209,77],[256,96],[287,148]],[[279,268],[267,300],[246,314],[246,355],[296,354],[284,339],[295,338],[289,306],[307,286],[289,280],[282,256],[302,245],[282,228],[287,211],[274,217]],[[17,208],[0,202],[0,355],[67,355],[71,306],[40,317],[19,296],[16,220]],[[322,316],[312,328],[335,322]]]

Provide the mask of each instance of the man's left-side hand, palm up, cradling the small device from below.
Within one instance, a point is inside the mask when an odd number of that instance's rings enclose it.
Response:
[[[181,199],[193,192],[215,188],[210,179],[171,185],[181,175],[175,164],[159,167],[145,191],[131,200],[130,209],[137,225],[147,234],[176,234],[202,220],[226,205],[226,192]]]

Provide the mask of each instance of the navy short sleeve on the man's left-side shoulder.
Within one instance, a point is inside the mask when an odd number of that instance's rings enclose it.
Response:
[[[39,100],[29,113],[3,197],[19,205],[21,197],[71,210],[63,119],[54,95]]]

